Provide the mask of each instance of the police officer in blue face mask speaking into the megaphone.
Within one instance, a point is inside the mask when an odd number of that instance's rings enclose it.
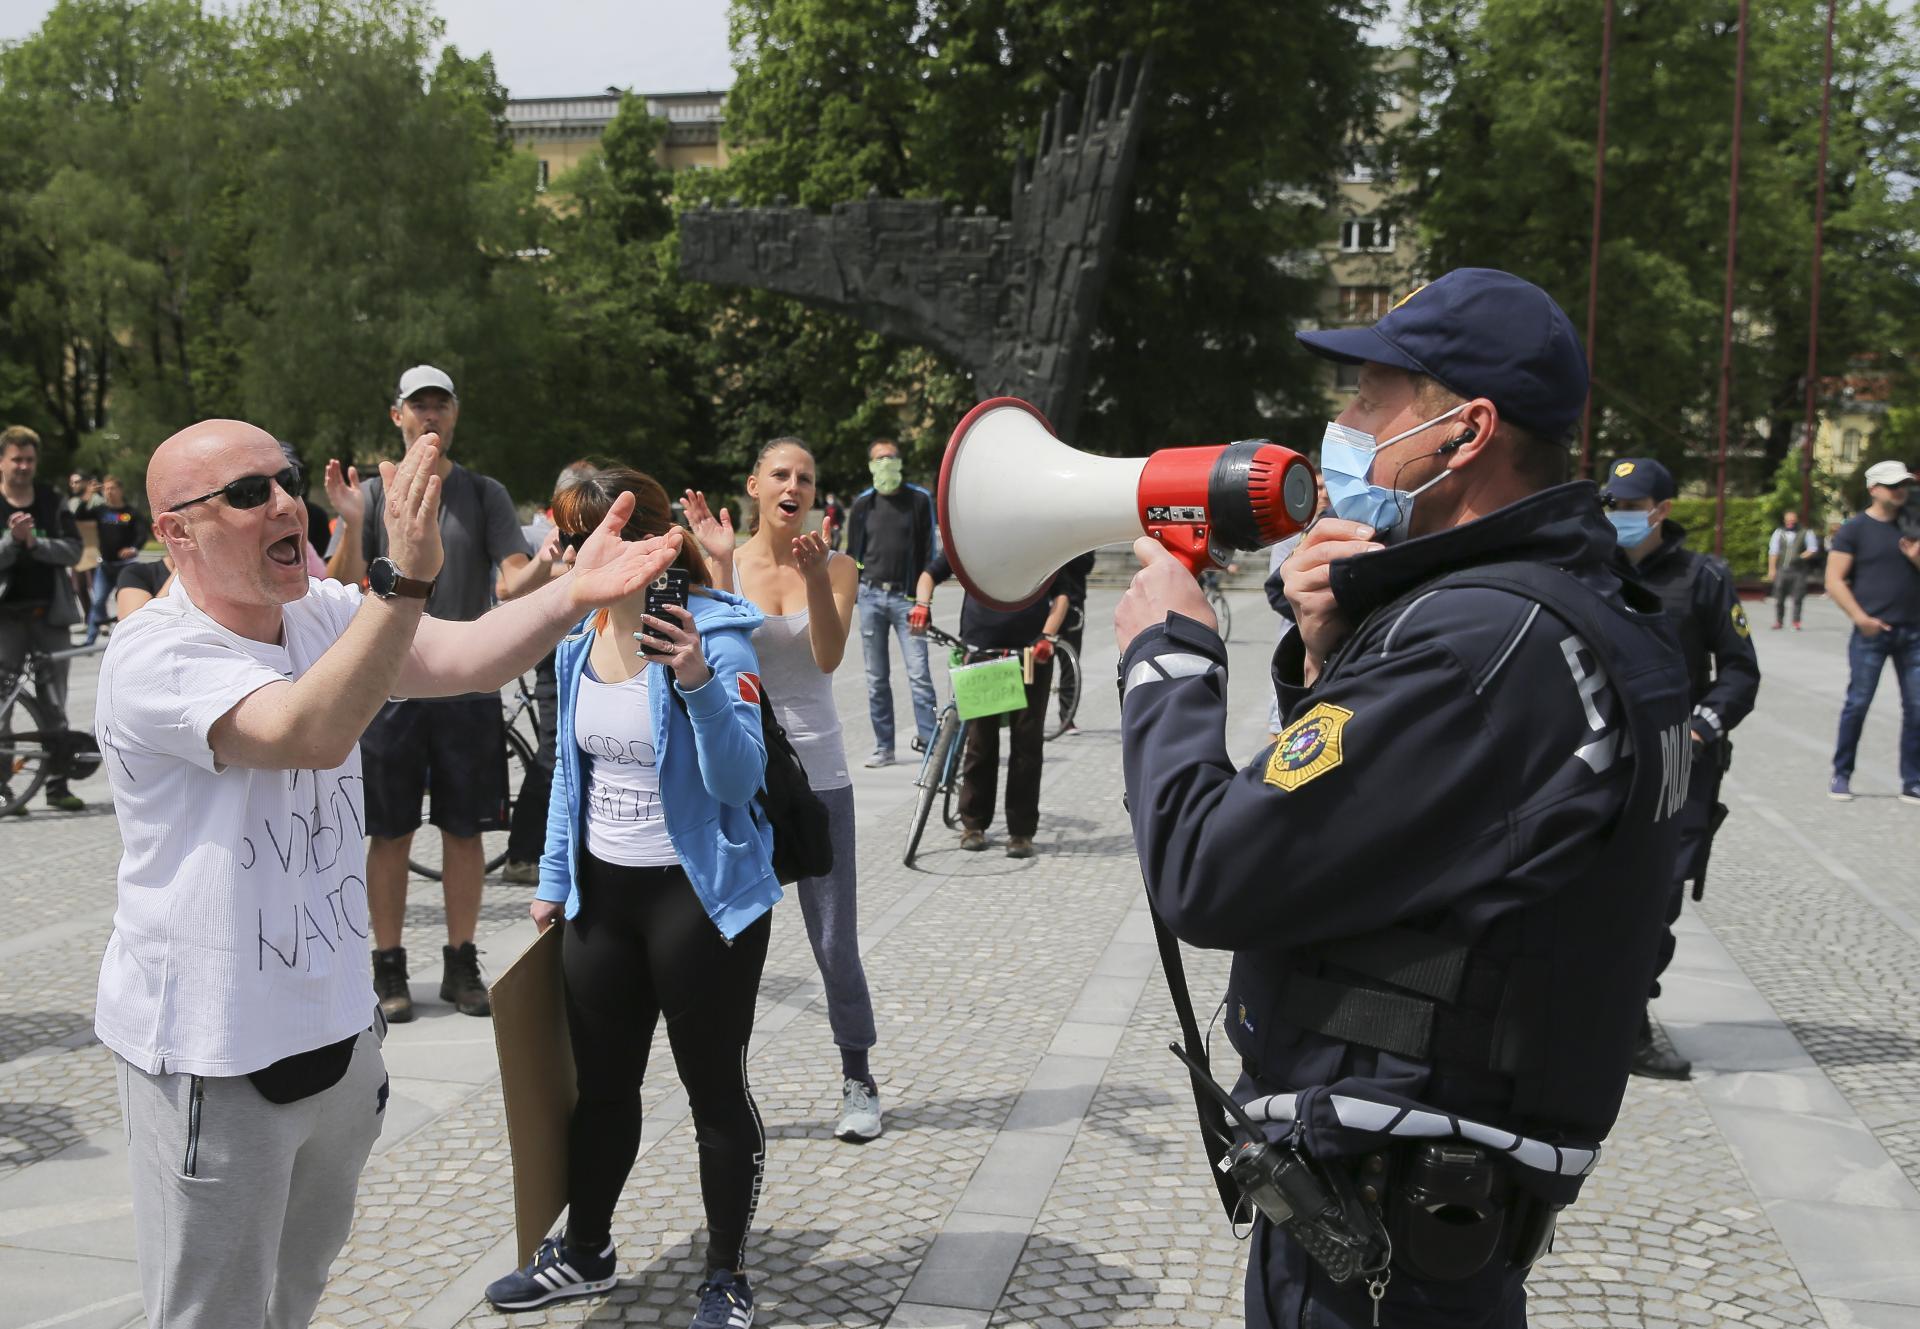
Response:
[[[1546,292],[1459,269],[1300,340],[1359,390],[1323,442],[1334,515],[1283,572],[1286,728],[1235,768],[1212,613],[1140,542],[1116,620],[1135,841],[1165,926],[1235,953],[1233,1097],[1344,1233],[1260,1204],[1248,1323],[1523,1325],[1653,981],[1686,676],[1594,486],[1563,482],[1588,376]]]

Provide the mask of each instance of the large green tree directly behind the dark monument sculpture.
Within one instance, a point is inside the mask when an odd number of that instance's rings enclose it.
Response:
[[[1292,340],[1294,323],[1313,313],[1319,269],[1288,259],[1319,240],[1329,182],[1371,115],[1359,33],[1373,6],[1281,10],[1252,0],[737,0],[735,159],[714,192],[826,207],[872,188],[1004,215],[1014,156],[1031,150],[1043,113],[1062,94],[1079,98],[1098,61],[1150,54],[1137,202],[1073,442],[1142,451],[1283,432],[1323,411],[1315,367]],[[927,353],[876,344],[831,315],[776,321],[758,298],[726,303],[724,325],[760,338],[764,353],[735,365],[762,401],[780,401],[787,419],[812,405],[847,449],[876,432],[866,423],[891,417],[895,426],[877,432],[931,453],[977,396]],[[820,359],[781,353],[799,344]],[[854,367],[862,380],[847,382]]]

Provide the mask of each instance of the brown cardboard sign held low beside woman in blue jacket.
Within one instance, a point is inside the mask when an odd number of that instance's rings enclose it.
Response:
[[[524,1268],[566,1208],[566,1127],[580,1097],[566,1041],[561,928],[547,928],[493,979],[493,1047],[513,1152],[513,1233]]]

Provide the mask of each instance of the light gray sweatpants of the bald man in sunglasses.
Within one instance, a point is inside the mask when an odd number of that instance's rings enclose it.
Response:
[[[386,1120],[374,1031],[340,1083],[286,1104],[246,1075],[115,1068],[150,1329],[307,1325]]]

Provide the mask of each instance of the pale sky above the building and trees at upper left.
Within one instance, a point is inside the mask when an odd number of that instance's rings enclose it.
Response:
[[[29,36],[50,0],[0,0],[0,42]],[[447,40],[493,52],[513,96],[705,92],[733,83],[726,0],[436,0]]]

